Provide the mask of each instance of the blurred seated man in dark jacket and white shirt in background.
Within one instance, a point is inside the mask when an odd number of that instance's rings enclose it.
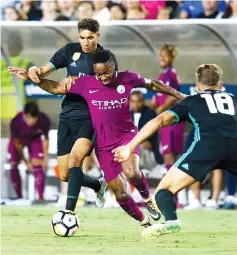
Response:
[[[141,130],[147,122],[156,117],[156,113],[145,105],[144,95],[139,90],[134,90],[130,95],[130,109],[131,118],[138,130]],[[140,148],[142,151],[146,150],[154,152],[156,163],[163,163],[163,159],[159,152],[158,133],[155,133],[147,141],[144,141]]]

